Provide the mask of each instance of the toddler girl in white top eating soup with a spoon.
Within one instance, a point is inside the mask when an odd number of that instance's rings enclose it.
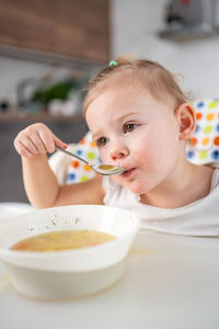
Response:
[[[195,113],[170,71],[119,57],[90,82],[83,113],[102,161],[126,172],[59,186],[46,152],[67,145],[44,124],[33,124],[14,146],[35,207],[105,204],[132,211],[148,229],[219,235],[219,171],[186,159]]]

